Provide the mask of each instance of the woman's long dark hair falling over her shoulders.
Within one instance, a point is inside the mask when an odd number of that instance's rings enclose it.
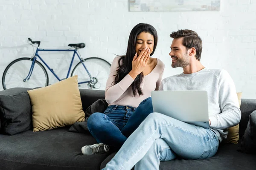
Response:
[[[134,55],[136,53],[135,46],[136,46],[136,40],[137,36],[142,33],[150,33],[154,37],[154,49],[150,56],[154,54],[154,51],[157,47],[157,31],[156,29],[146,23],[139,23],[131,30],[129,40],[128,40],[128,46],[125,56],[120,56],[120,59],[118,60],[119,69],[117,70],[117,74],[115,77],[114,84],[120,82],[132,69],[132,60],[134,58]],[[120,64],[122,61],[122,65]],[[144,75],[143,73],[140,73],[134,80],[134,82],[131,84],[131,88],[133,91],[134,96],[136,94],[139,94],[140,96],[143,95],[142,89],[140,88],[140,83],[142,82]]]

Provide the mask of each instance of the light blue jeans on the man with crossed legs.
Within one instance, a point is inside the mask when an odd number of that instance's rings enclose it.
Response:
[[[218,136],[210,129],[151,113],[125,141],[103,170],[157,170],[160,161],[206,159],[218,150]]]

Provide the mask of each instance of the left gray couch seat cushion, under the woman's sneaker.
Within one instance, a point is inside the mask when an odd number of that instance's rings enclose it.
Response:
[[[89,132],[73,133],[68,128],[0,135],[0,170],[99,170],[108,154],[82,155],[81,147],[96,140]]]

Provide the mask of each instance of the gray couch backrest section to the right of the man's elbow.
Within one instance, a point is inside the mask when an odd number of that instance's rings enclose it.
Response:
[[[239,136],[244,136],[244,131],[249,121],[249,115],[256,110],[256,99],[241,99],[241,121],[239,123]]]

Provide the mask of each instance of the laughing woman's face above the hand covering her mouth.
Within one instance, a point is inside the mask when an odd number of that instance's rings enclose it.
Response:
[[[135,51],[138,56],[144,48],[150,48],[150,54],[154,50],[154,36],[148,32],[142,32],[137,36]]]

